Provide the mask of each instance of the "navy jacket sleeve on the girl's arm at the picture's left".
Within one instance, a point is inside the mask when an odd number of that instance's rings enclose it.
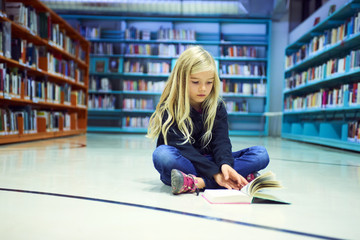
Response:
[[[161,134],[160,138],[163,138]],[[201,176],[212,178],[214,174],[220,172],[219,167],[214,162],[209,161],[209,159],[203,156],[191,143],[187,142],[183,144],[183,135],[176,124],[173,124],[170,127],[167,133],[167,141],[169,146],[179,149],[181,155],[191,161],[196,171]],[[160,142],[163,142],[163,139],[161,139]]]

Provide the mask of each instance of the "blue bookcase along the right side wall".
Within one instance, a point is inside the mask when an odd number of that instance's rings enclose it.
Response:
[[[286,48],[282,137],[360,151],[360,1]]]

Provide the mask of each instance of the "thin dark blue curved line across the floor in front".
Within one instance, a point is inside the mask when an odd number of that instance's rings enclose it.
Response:
[[[187,213],[187,212],[177,211],[177,210],[172,210],[172,209],[146,206],[146,205],[141,205],[141,204],[136,204],[136,203],[127,203],[127,202],[119,202],[119,201],[100,199],[100,198],[91,198],[91,197],[83,197],[83,196],[68,195],[68,194],[38,192],[38,191],[10,189],[10,188],[0,188],[0,191],[30,193],[30,194],[47,195],[47,196],[54,196],[54,197],[64,197],[64,198],[73,198],[73,199],[88,200],[88,201],[95,201],[95,202],[103,202],[103,203],[117,204],[117,205],[129,206],[129,207],[137,207],[137,208],[144,208],[144,209],[149,209],[149,210],[156,210],[156,211],[161,211],[161,212],[174,213],[174,214],[208,219],[208,220],[218,221],[218,222],[232,223],[232,224],[237,224],[237,225],[241,225],[241,226],[254,227],[254,228],[270,230],[270,231],[277,231],[277,232],[294,234],[294,235],[299,235],[299,236],[304,236],[304,237],[311,237],[311,238],[317,238],[317,239],[328,239],[328,240],[330,240],[330,239],[331,240],[340,240],[341,239],[341,238],[333,238],[333,237],[328,237],[328,236],[323,236],[323,235],[318,235],[318,234],[305,233],[305,232],[300,232],[300,231],[264,226],[264,225],[259,225],[259,224],[234,221],[234,220],[225,219],[225,218],[211,217],[211,216],[202,215],[202,214]]]

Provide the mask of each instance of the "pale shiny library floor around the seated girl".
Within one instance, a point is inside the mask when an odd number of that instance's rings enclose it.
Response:
[[[0,146],[0,239],[360,239],[360,155],[280,138],[268,149],[291,204],[174,196],[143,135],[87,134]]]

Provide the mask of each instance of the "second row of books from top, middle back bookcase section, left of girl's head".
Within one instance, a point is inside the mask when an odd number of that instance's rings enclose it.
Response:
[[[128,55],[148,55],[177,57],[186,49],[191,47],[189,44],[129,44],[126,46],[125,53]]]

